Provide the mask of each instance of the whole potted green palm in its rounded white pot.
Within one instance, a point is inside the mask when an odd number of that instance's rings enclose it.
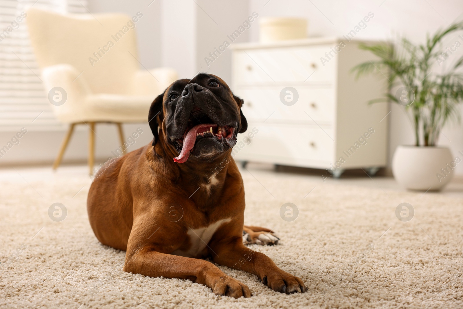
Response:
[[[392,160],[395,179],[407,189],[442,189],[461,161],[459,157],[452,158],[448,147],[437,145],[441,129],[450,120],[460,120],[457,104],[463,99],[463,75],[459,72],[463,57],[455,57],[449,49],[442,50],[443,38],[460,30],[463,22],[428,36],[425,44],[401,38],[399,48],[391,43],[359,46],[377,59],[354,67],[357,77],[387,71],[390,82],[388,93],[369,103],[395,102],[406,109],[413,123],[415,144],[398,146]],[[452,46],[461,46],[462,38],[458,37]],[[439,68],[443,62],[448,68],[444,71]],[[391,90],[396,88],[394,95]]]

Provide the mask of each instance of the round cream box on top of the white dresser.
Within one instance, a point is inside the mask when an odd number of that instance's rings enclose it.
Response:
[[[307,19],[303,18],[263,17],[259,27],[262,43],[307,38]]]

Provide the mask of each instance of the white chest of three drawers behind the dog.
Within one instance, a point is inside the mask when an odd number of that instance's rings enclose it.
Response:
[[[387,80],[355,78],[351,69],[374,59],[358,44],[341,48],[338,38],[317,38],[232,45],[232,90],[244,100],[248,132],[256,132],[238,137],[234,158],[335,176],[385,166],[388,106],[367,102],[384,95]]]

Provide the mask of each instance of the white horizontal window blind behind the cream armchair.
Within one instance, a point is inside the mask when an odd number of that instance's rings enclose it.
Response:
[[[28,130],[63,129],[44,92],[27,17],[19,23],[16,18],[31,6],[58,13],[88,13],[87,5],[87,0],[0,0],[0,131],[17,131],[23,126]]]

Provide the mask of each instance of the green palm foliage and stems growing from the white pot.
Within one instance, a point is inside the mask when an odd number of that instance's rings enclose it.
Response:
[[[359,44],[359,49],[369,51],[375,59],[353,67],[351,71],[356,78],[387,72],[389,90],[399,83],[415,94],[413,103],[405,107],[415,129],[415,145],[420,145],[420,135],[424,137],[422,145],[435,145],[446,123],[460,121],[457,104],[463,100],[463,75],[457,73],[457,69],[463,66],[463,57],[443,75],[433,74],[431,70],[433,62],[443,54],[438,49],[439,43],[445,36],[460,30],[463,30],[463,21],[428,35],[425,44],[416,45],[407,38],[401,38],[395,45],[388,42]],[[384,101],[400,103],[391,93],[368,103]]]

